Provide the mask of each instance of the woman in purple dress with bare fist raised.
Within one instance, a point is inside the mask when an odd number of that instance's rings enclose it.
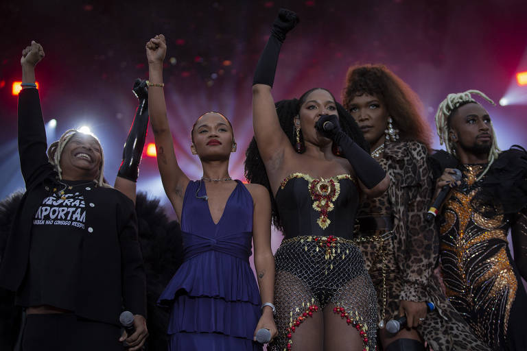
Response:
[[[268,192],[229,176],[236,143],[231,123],[218,112],[202,114],[191,131],[191,151],[203,167],[201,180],[189,180],[180,169],[163,95],[166,50],[163,35],[146,45],[157,163],[185,250],[183,265],[159,298],[160,304],[172,306],[169,350],[261,350],[256,331],[277,334]],[[253,237],[259,291],[248,262]]]

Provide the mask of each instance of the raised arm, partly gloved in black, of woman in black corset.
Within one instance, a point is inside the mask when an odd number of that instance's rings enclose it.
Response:
[[[285,150],[292,152],[288,137],[280,127],[271,88],[283,40],[296,23],[298,23],[298,16],[294,12],[280,9],[277,19],[272,24],[264,52],[258,60],[253,80],[253,128],[258,149],[266,167],[270,163],[279,167],[280,162],[272,161],[283,160]]]

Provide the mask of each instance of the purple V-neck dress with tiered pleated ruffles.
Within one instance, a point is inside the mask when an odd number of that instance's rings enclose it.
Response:
[[[262,350],[253,341],[261,300],[248,260],[253,197],[236,182],[218,224],[207,201],[198,198],[207,195],[205,184],[191,181],[185,191],[185,261],[158,301],[172,305],[169,350]]]

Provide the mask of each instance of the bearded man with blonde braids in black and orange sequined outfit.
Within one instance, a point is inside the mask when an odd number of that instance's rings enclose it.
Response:
[[[438,223],[447,296],[492,350],[527,350],[527,152],[502,152],[489,112],[473,95],[449,94],[436,114],[437,191],[452,185]],[[450,174],[459,169],[455,182]],[[509,249],[511,230],[514,259]]]

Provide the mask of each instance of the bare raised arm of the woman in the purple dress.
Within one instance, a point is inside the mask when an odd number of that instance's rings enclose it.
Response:
[[[160,34],[146,43],[146,57],[148,58],[148,74],[150,77],[148,92],[148,108],[150,123],[156,142],[157,165],[163,188],[167,194],[176,215],[180,218],[183,196],[189,184],[189,178],[178,166],[174,143],[167,119],[167,106],[163,91],[163,60],[167,52],[165,36]]]

